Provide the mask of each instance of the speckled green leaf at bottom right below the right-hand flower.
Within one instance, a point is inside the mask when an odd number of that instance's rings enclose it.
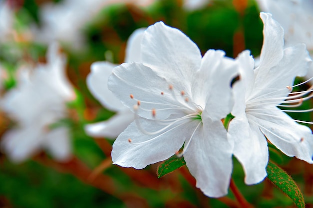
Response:
[[[289,196],[297,207],[305,207],[303,195],[290,175],[270,161],[268,162],[266,171],[267,178],[283,193]]]

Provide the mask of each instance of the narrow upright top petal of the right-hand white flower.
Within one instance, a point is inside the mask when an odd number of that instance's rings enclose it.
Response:
[[[264,41],[259,68],[260,72],[267,73],[267,70],[277,65],[283,56],[283,29],[271,18],[270,13],[261,13],[260,16],[264,22]]]

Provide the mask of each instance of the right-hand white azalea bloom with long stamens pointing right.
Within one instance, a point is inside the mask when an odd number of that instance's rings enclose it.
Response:
[[[313,163],[311,130],[285,113],[301,111],[278,108],[298,106],[310,98],[302,98],[310,90],[291,91],[296,87],[292,86],[294,78],[306,74],[311,60],[304,44],[284,48],[283,29],[271,14],[261,13],[261,18],[264,43],[259,66],[254,69],[254,60],[248,51],[239,55],[241,79],[233,87],[235,118],[228,128],[230,138],[235,141],[234,155],[243,165],[247,184],[258,183],[266,177],[266,138],[286,155]]]

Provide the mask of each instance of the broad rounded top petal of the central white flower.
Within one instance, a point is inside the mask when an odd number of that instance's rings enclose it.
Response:
[[[177,87],[183,82],[190,93],[193,74],[200,68],[201,52],[180,30],[157,22],[145,31],[141,43],[143,64]]]

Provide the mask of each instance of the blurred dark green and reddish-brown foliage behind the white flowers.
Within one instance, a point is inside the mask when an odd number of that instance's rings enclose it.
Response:
[[[0,42],[0,63],[7,71],[5,90],[16,85],[15,73],[22,61],[45,61],[47,45],[29,40],[25,33],[33,24],[42,26],[39,11],[47,2],[49,0],[10,1],[16,14],[14,29],[17,34],[9,41]],[[244,2],[215,0],[194,11],[184,9],[182,0],[157,0],[147,7],[117,3],[101,8],[81,28],[86,39],[82,49],[61,42],[68,60],[67,75],[78,97],[68,103],[70,118],[59,123],[71,129],[73,158],[58,163],[41,152],[26,162],[14,164],[1,154],[0,207],[229,207],[231,204],[236,207],[231,191],[227,198],[204,196],[194,187],[195,180],[185,166],[157,179],[158,164],[143,170],[111,165],[113,141],[91,138],[83,127],[114,114],[104,109],[86,86],[90,65],[103,60],[122,63],[126,41],[137,28],[163,21],[182,30],[199,46],[202,54],[213,48],[236,57],[248,49],[257,57],[263,41],[263,24],[255,1]],[[310,102],[306,104],[311,105]],[[294,115],[295,119],[302,120],[312,120],[311,117],[309,113]],[[3,113],[0,122],[3,134],[12,122]],[[313,167],[269,146],[271,160],[292,175],[304,193],[307,207],[313,207]],[[235,158],[233,179],[256,207],[293,207],[291,199],[266,179],[257,185],[245,185],[242,167]]]

